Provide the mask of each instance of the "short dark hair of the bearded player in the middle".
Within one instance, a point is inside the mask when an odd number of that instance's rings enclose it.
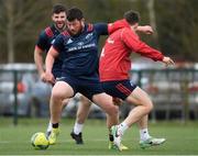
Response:
[[[67,11],[67,20],[69,22],[74,20],[80,21],[81,19],[84,19],[84,13],[80,9],[74,7]]]

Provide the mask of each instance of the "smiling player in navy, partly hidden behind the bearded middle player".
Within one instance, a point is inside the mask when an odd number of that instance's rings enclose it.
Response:
[[[37,71],[40,75],[40,78],[42,81],[45,80],[45,70],[43,67],[43,54],[46,54],[51,47],[51,45],[54,43],[57,35],[59,35],[63,31],[66,30],[66,8],[63,4],[55,4],[52,10],[52,21],[53,24],[51,26],[47,26],[38,36],[35,49],[34,49],[34,60],[35,65],[37,67]],[[53,65],[53,75],[55,78],[61,77],[62,75],[62,59],[57,57],[55,59],[55,63]],[[77,111],[77,119],[74,126],[73,132],[70,133],[72,137],[76,141],[76,144],[82,144],[82,136],[81,136],[81,129],[82,123],[87,119],[87,115],[89,113],[90,108],[90,101],[84,97],[80,96],[80,102],[81,104],[78,107]],[[63,108],[68,101],[65,100],[63,102]],[[50,135],[52,130],[51,122],[48,123],[47,132],[46,134]]]

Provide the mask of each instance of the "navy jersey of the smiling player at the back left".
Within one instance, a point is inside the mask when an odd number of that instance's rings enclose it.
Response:
[[[61,34],[61,32],[54,26],[47,26],[42,33],[40,34],[40,37],[36,42],[36,46],[41,48],[44,52],[48,52],[51,48],[51,45],[54,43],[55,38]],[[54,66],[53,66],[53,75],[55,77],[59,77],[62,74],[62,65],[63,62],[61,57],[57,57],[55,59]]]

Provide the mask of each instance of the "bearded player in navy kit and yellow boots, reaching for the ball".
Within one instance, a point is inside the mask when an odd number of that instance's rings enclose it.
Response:
[[[108,24],[86,24],[82,12],[73,8],[67,12],[67,27],[57,36],[46,56],[46,80],[55,82],[53,65],[55,58],[62,56],[63,73],[55,83],[51,97],[52,133],[51,144],[56,142],[58,123],[64,99],[74,97],[77,92],[97,103],[107,113],[107,125],[110,129],[118,123],[118,108],[112,98],[101,88],[98,76],[98,40],[108,34]]]

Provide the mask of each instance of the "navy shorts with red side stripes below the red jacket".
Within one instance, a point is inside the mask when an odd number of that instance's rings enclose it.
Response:
[[[131,92],[136,88],[136,85],[132,83],[129,79],[117,81],[103,81],[101,82],[106,93],[125,100]]]

